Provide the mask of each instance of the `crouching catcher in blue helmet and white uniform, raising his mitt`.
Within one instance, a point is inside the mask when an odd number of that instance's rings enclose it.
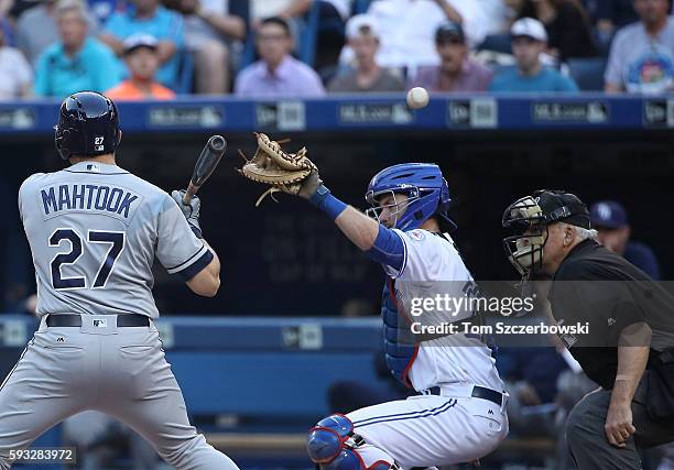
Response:
[[[491,350],[464,334],[434,337],[421,347],[404,341],[410,328],[401,318],[413,298],[465,297],[475,288],[452,238],[441,231],[456,226],[447,215],[449,188],[438,166],[409,163],[377,174],[366,195],[370,218],[330,194],[306,149],[290,154],[267,135],[257,136],[258,151],[241,173],[270,186],[262,197],[283,192],[307,199],[383,266],[387,364],[420,392],[322,419],[307,439],[312,461],[324,469],[411,469],[467,462],[494,450],[508,434],[508,395]],[[452,321],[472,315],[457,311]]]

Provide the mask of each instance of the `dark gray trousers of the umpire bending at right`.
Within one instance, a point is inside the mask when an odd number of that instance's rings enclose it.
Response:
[[[641,470],[639,450],[674,441],[674,419],[651,419],[644,405],[645,392],[642,379],[632,401],[632,424],[637,433],[622,449],[611,446],[604,431],[611,392],[594,392],[578,402],[566,422],[566,440],[578,469]]]

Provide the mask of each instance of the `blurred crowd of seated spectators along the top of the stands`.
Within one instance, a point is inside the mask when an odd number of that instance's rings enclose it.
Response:
[[[668,0],[1,0],[0,99],[660,92],[674,78],[671,11]]]

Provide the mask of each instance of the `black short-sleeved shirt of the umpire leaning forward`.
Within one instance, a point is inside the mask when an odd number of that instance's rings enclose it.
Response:
[[[589,323],[589,334],[561,338],[605,389],[616,381],[618,339],[626,327],[645,321],[653,330],[652,350],[674,347],[674,296],[594,240],[572,249],[553,277],[548,299],[557,323]]]

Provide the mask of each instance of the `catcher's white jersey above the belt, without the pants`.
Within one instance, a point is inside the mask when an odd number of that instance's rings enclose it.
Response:
[[[454,241],[447,234],[417,229],[409,232],[395,230],[405,248],[400,271],[384,266],[394,278],[398,305],[411,321],[439,325],[469,318],[472,309],[455,309],[452,299],[466,299],[475,288],[470,272],[464,264]],[[439,295],[439,304],[436,302]],[[433,302],[430,303],[432,299]],[[423,302],[426,307],[422,308]],[[503,390],[491,350],[478,338],[448,335],[424,341],[409,372],[414,389],[423,391],[436,385],[465,383]]]

